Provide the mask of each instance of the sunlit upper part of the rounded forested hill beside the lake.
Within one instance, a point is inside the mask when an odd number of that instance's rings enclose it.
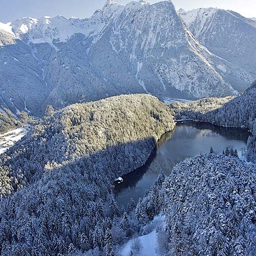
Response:
[[[60,168],[110,147],[117,150],[120,146],[121,151],[122,144],[139,145],[149,140],[151,150],[145,148],[136,160],[140,166],[154,149],[154,141],[174,129],[167,106],[150,95],[115,96],[96,102],[72,104],[57,112],[49,110],[48,113],[42,124],[36,125],[28,136],[0,157],[0,167],[8,169],[8,172],[1,174],[0,184],[9,180],[3,178],[5,175],[12,177],[8,186],[0,187],[0,198],[13,193],[17,187],[38,180],[49,166]],[[146,156],[142,157],[144,153]],[[132,162],[123,162],[116,175]],[[22,173],[19,172],[20,165],[23,166]]]

